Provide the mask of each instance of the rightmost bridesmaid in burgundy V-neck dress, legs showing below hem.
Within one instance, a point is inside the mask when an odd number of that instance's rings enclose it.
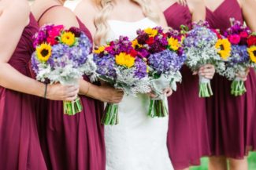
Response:
[[[210,26],[221,32],[230,27],[229,18],[246,22],[256,31],[256,2],[254,0],[206,0],[206,20]],[[248,151],[256,148],[256,75],[253,69],[243,78],[247,92],[235,97],[230,94],[230,84],[226,78],[213,78],[213,93],[207,99],[210,142],[213,156],[210,169],[247,169]]]

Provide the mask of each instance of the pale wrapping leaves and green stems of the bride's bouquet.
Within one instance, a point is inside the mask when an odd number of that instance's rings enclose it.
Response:
[[[150,118],[162,118],[169,114],[163,91],[169,87],[172,79],[171,76],[161,74],[160,78],[151,80],[151,88],[157,97],[150,99],[150,109],[147,114]]]

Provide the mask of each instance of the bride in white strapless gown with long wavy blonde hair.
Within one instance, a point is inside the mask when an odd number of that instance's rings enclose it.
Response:
[[[136,37],[136,30],[166,27],[158,5],[150,0],[83,0],[75,13],[94,35],[95,45]],[[170,96],[171,89],[166,89]],[[151,97],[154,97],[151,94]],[[106,170],[173,170],[166,146],[168,117],[149,118],[150,96],[124,96],[118,125],[105,126]]]

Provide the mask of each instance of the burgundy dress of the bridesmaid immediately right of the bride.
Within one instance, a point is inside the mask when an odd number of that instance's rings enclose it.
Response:
[[[164,12],[169,27],[180,30],[180,25],[191,27],[191,13],[187,6],[175,3]],[[206,100],[198,97],[198,75],[184,66],[182,83],[168,98],[169,131],[167,145],[173,167],[199,165],[200,157],[210,155],[207,132]]]

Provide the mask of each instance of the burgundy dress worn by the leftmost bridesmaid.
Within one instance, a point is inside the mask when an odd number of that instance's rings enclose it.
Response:
[[[32,77],[28,63],[35,51],[32,36],[38,29],[31,14],[30,23],[24,28],[20,42],[9,60],[12,67],[28,77]],[[39,143],[34,101],[34,96],[0,86],[1,170],[46,170]]]

